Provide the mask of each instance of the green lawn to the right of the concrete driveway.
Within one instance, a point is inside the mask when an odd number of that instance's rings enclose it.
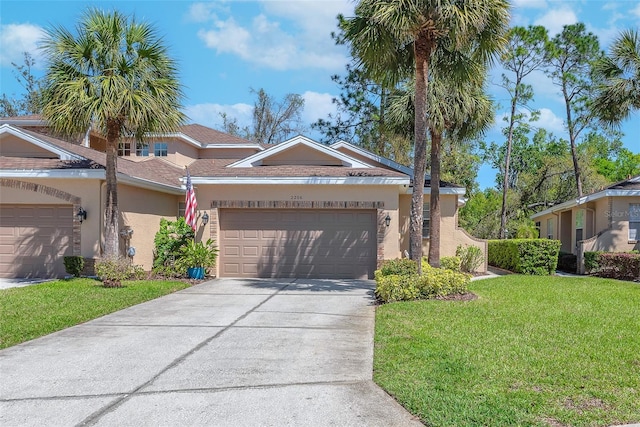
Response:
[[[511,275],[380,306],[374,380],[430,426],[640,422],[640,284]]]

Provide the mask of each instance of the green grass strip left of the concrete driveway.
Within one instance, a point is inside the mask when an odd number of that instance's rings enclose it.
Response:
[[[162,280],[104,288],[92,279],[47,282],[0,290],[0,348],[59,331],[189,287]]]

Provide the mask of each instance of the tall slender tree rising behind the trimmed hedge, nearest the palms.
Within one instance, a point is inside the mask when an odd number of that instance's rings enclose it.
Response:
[[[506,237],[507,227],[507,191],[509,189],[509,166],[513,132],[527,115],[517,111],[518,107],[527,107],[533,99],[533,88],[523,83],[523,79],[537,70],[544,62],[544,48],[547,43],[547,30],[542,26],[513,27],[507,34],[507,47],[500,57],[505,70],[513,74],[513,79],[502,74],[502,87],[511,96],[508,127],[506,129],[507,150],[504,158],[504,178],[502,182],[502,209],[500,212],[500,238]]]

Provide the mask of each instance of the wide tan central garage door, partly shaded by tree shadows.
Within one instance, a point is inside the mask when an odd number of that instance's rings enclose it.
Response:
[[[375,210],[220,210],[222,277],[372,278]]]

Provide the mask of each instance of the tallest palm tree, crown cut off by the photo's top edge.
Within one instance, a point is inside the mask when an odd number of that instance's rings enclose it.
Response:
[[[374,80],[385,86],[393,86],[411,75],[415,79],[414,177],[409,253],[411,259],[418,263],[419,271],[422,258],[429,67],[437,66],[456,81],[477,77],[476,69],[456,66],[460,62],[455,58],[460,51],[473,48],[477,62],[489,62],[504,44],[508,10],[506,0],[360,0],[355,17],[340,17],[342,34],[338,40],[349,43],[351,55]],[[432,63],[435,54],[440,60]],[[439,160],[437,139],[435,142],[432,139],[431,152],[431,197],[437,201],[440,184],[439,163],[435,164]],[[434,218],[434,214],[431,217]],[[439,217],[433,225],[437,227],[436,234],[439,237]],[[439,246],[435,250],[439,251]]]

